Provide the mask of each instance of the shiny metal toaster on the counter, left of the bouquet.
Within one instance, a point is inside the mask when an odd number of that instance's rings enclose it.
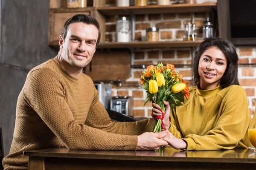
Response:
[[[113,96],[110,100],[110,109],[126,116],[133,116],[132,96]]]

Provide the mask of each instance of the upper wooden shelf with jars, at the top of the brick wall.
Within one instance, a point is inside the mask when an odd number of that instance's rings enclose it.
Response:
[[[207,12],[211,7],[216,7],[216,3],[201,4],[172,4],[168,6],[148,5],[148,6],[128,6],[128,7],[96,7],[104,15],[123,14],[159,14],[159,13],[179,13],[179,12]]]

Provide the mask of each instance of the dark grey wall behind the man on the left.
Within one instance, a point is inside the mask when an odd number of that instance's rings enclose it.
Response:
[[[26,75],[58,51],[47,45],[49,0],[1,0],[0,7],[0,127],[7,155]]]

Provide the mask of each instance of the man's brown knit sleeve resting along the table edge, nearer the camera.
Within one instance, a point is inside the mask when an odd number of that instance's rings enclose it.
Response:
[[[31,71],[23,94],[29,106],[68,149],[135,150],[137,147],[137,136],[108,133],[79,124],[67,104],[63,82],[49,68]]]

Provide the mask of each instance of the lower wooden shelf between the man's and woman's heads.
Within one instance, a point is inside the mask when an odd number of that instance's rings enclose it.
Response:
[[[203,40],[198,41],[157,41],[157,42],[102,42],[101,48],[189,48],[197,47]]]

